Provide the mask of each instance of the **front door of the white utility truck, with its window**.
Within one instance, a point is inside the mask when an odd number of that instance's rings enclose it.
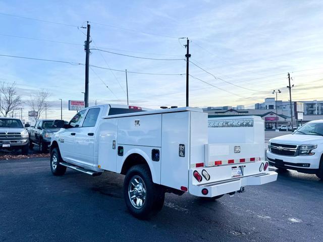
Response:
[[[80,129],[80,125],[82,124],[83,117],[86,109],[78,112],[70,121],[69,128],[65,129],[60,133],[59,138],[59,147],[61,151],[61,155],[63,159],[69,159],[71,161],[75,161],[75,136],[78,129]]]

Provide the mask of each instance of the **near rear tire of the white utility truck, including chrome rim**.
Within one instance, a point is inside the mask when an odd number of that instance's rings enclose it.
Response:
[[[164,205],[165,193],[152,182],[146,165],[135,165],[128,170],[123,191],[128,210],[139,219],[148,218]]]

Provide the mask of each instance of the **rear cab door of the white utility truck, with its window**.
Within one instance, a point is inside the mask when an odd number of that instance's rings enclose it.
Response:
[[[94,140],[101,109],[89,108],[82,126],[75,131],[75,159],[79,163],[90,166],[94,163]]]

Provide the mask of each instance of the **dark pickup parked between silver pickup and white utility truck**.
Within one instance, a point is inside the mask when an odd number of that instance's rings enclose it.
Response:
[[[48,151],[51,136],[60,130],[53,127],[53,121],[53,119],[39,119],[34,127],[29,128],[30,148],[37,145],[40,152]]]

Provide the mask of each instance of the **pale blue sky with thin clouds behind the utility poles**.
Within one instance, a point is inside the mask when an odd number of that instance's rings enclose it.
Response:
[[[185,106],[186,38],[190,106],[253,108],[274,89],[289,100],[287,73],[293,100],[322,100],[322,12],[322,1],[297,0],[0,1],[0,54],[84,64],[89,21],[89,105],[126,104],[127,69],[182,74],[128,73],[130,105]],[[48,90],[47,118],[60,118],[59,98],[66,120],[68,100],[83,100],[84,65],[0,56],[0,73],[23,100]]]

